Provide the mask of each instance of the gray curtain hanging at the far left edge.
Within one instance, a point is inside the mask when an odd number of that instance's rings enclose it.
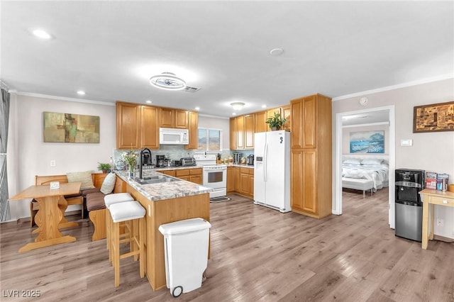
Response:
[[[9,92],[1,87],[0,104],[0,221],[11,218],[8,201],[8,175],[6,174],[6,146],[8,145]]]

